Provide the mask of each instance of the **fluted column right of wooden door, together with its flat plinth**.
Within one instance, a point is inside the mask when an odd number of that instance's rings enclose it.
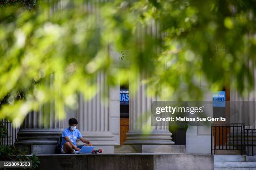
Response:
[[[146,95],[146,86],[138,85],[136,93],[130,86],[129,91],[129,131],[115,153],[184,153],[184,145],[174,145],[167,123],[151,126],[151,103],[156,99]]]

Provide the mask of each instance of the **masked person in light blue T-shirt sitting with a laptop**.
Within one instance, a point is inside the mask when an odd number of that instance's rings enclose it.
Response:
[[[69,127],[62,132],[62,142],[61,142],[61,153],[74,153],[75,150],[80,152],[80,149],[77,148],[76,142],[77,138],[80,139],[83,143],[87,143],[89,146],[92,146],[88,140],[85,140],[79,130],[77,129],[78,121],[75,118],[69,119]]]

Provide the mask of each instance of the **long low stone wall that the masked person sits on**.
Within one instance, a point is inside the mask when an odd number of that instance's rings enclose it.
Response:
[[[69,154],[38,157],[38,170],[214,170],[213,155],[200,154]]]

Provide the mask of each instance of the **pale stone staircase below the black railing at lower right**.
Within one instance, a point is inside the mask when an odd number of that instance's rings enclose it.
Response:
[[[214,170],[256,170],[256,156],[214,155]]]

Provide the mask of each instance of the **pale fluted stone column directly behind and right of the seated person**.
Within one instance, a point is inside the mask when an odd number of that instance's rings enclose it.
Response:
[[[83,96],[79,95],[78,128],[95,149],[101,148],[104,153],[113,153],[114,145],[120,144],[119,85],[108,88],[104,73],[100,73],[97,75],[97,87],[99,92],[90,101],[84,101]],[[109,101],[102,100],[104,91]]]

